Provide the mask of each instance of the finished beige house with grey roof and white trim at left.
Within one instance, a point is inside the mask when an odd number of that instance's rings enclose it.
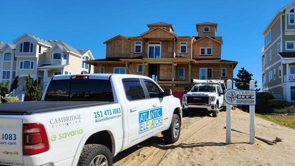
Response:
[[[93,67],[83,60],[94,59],[90,50],[76,50],[60,40],[44,40],[28,33],[13,41],[0,42],[0,82],[19,76],[19,86],[25,86],[30,74],[43,87],[54,75],[93,73]]]

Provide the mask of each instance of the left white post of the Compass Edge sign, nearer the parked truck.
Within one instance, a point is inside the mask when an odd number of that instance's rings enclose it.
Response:
[[[227,89],[232,89],[232,80],[226,82]],[[232,133],[232,105],[226,103],[226,144],[231,143]]]

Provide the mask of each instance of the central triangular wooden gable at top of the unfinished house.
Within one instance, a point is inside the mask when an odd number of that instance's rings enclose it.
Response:
[[[160,27],[149,29],[141,34],[145,38],[177,38],[177,35]]]

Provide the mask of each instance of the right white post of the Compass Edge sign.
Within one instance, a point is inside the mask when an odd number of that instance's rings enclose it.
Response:
[[[255,81],[250,81],[250,90],[255,90]],[[255,143],[255,105],[249,106],[250,112],[250,144]]]

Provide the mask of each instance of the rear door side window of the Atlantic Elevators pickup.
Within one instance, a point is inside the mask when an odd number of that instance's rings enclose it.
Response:
[[[123,79],[123,86],[128,100],[145,99],[144,89],[139,79]]]

